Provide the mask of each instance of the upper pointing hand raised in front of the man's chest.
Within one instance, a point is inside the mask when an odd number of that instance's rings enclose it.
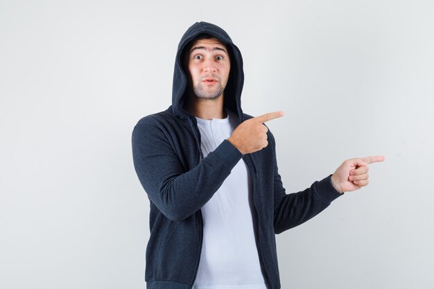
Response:
[[[238,148],[243,155],[262,150],[268,146],[268,128],[263,123],[281,116],[284,116],[284,112],[270,112],[243,121],[227,140]]]

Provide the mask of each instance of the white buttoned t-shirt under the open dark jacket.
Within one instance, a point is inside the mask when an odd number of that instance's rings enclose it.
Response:
[[[235,118],[196,118],[204,157],[231,136]],[[241,159],[202,207],[202,252],[193,289],[266,289],[254,238],[251,191],[248,167]]]

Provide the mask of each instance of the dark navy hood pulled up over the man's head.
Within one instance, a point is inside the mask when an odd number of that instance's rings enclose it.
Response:
[[[225,107],[232,112],[238,114],[240,120],[243,119],[243,111],[241,110],[241,91],[244,84],[243,73],[243,58],[241,52],[234,43],[232,43],[229,35],[222,28],[207,22],[196,22],[181,38],[180,44],[177,47],[175,69],[173,72],[173,87],[172,87],[172,110],[176,116],[182,119],[191,118],[191,114],[183,109],[186,89],[187,89],[187,74],[182,68],[182,56],[184,49],[189,46],[191,40],[198,35],[206,33],[216,37],[220,42],[226,44],[229,50],[229,57],[231,61],[231,72],[229,80],[225,88]]]

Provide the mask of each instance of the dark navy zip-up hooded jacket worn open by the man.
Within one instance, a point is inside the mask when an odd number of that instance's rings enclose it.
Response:
[[[286,194],[270,131],[268,146],[252,154],[243,156],[225,140],[207,157],[202,156],[196,118],[183,108],[187,76],[182,68],[184,49],[202,33],[216,37],[229,50],[231,74],[225,89],[225,107],[238,115],[240,123],[252,117],[241,110],[244,74],[240,51],[220,27],[206,22],[193,24],[177,49],[171,107],[144,117],[132,132],[134,168],[150,200],[147,288],[193,286],[202,246],[200,208],[243,158],[252,175],[252,213],[261,269],[267,287],[277,289],[280,281],[275,234],[306,222],[341,194],[333,188],[331,175],[314,182],[309,189]]]

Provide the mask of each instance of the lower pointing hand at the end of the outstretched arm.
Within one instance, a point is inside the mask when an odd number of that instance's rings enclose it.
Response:
[[[369,183],[368,164],[384,161],[381,155],[347,159],[331,176],[331,184],[339,193],[355,191]]]

